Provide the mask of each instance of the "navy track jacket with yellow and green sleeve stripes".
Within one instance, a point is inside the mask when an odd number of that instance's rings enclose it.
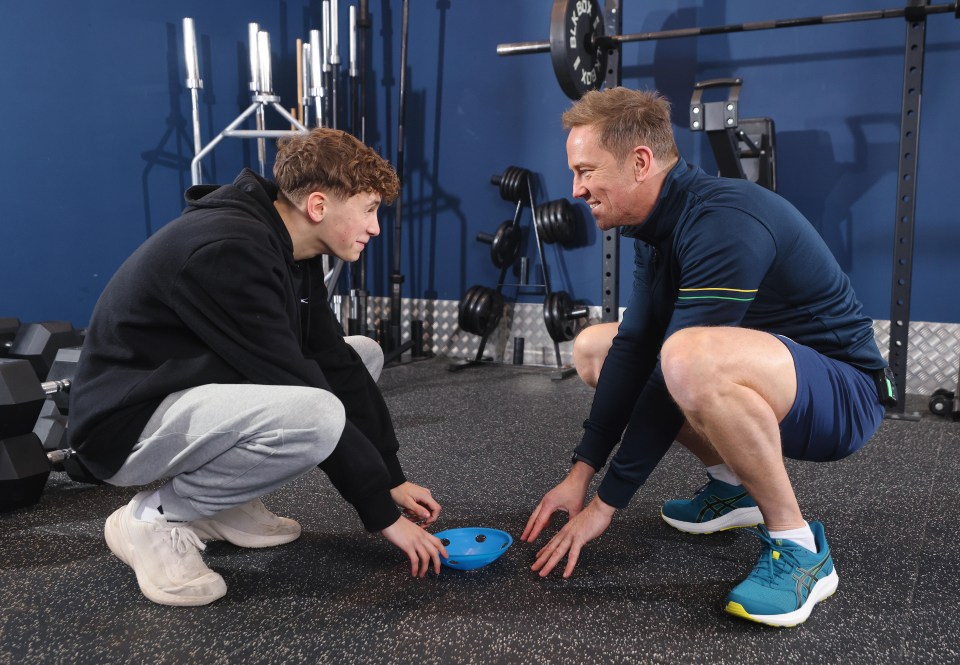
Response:
[[[773,192],[681,158],[650,216],[621,233],[636,238],[633,293],[575,451],[599,470],[622,435],[598,490],[605,503],[629,503],[683,424],[659,361],[678,330],[753,328],[864,371],[886,365],[830,249]]]

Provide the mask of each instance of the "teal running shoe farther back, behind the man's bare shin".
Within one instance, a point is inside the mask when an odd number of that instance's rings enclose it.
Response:
[[[688,501],[667,501],[660,516],[687,533],[713,533],[763,523],[757,502],[743,485],[731,485],[709,473],[706,485]]]

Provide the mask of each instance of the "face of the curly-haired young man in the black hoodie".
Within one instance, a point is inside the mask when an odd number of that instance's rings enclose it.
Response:
[[[317,225],[318,238],[326,248],[323,253],[356,261],[370,238],[380,235],[380,195],[362,192],[348,199],[331,196],[325,205],[323,221]]]

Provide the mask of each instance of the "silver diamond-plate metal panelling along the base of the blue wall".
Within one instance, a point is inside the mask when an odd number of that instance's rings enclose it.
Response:
[[[472,360],[480,348],[480,337],[460,330],[457,325],[459,302],[454,300],[403,299],[403,337],[410,336],[410,319],[423,320],[424,348],[434,354]],[[590,324],[600,322],[600,307],[591,307]],[[371,298],[370,325],[390,311],[389,298]],[[621,316],[623,310],[620,311]],[[877,346],[886,357],[890,347],[890,322],[874,321]],[[543,306],[539,303],[508,303],[497,329],[487,339],[484,356],[494,362],[513,362],[514,339],[523,338],[523,363],[556,367],[557,358],[553,340],[543,323]],[[573,342],[559,345],[560,362],[572,363]],[[910,324],[910,346],[907,352],[907,392],[930,395],[938,388],[957,389],[960,363],[960,324]]]

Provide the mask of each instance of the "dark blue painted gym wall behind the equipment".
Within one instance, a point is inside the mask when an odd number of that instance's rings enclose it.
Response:
[[[181,20],[195,19],[204,140],[249,104],[247,23],[271,33],[275,88],[295,104],[297,37],[320,2],[96,0],[10,3],[0,22],[4,84],[0,316],[89,320],[110,275],[175,217],[190,184],[190,98]],[[896,3],[827,0],[624,2],[624,32],[877,9]],[[569,196],[560,113],[569,100],[546,54],[503,58],[498,43],[545,40],[549,0],[411,2],[401,270],[405,297],[457,300],[498,271],[474,237],[513,214],[490,176],[508,165],[541,175],[542,200]],[[641,7],[642,5],[642,7]],[[399,0],[371,0],[368,143],[396,156]],[[346,5],[341,8],[346,23]],[[905,23],[899,19],[631,43],[624,84],[672,99],[682,154],[712,169],[706,137],[686,129],[693,83],[744,79],[743,116],[777,127],[779,190],[817,226],[850,274],[867,314],[889,318]],[[345,34],[345,33],[342,33]],[[344,48],[346,38],[342,37]],[[949,193],[960,23],[928,21],[911,318],[960,321],[960,219]],[[269,117],[269,116],[268,116]],[[271,126],[280,127],[277,118]],[[225,140],[205,161],[207,182],[255,166],[253,144]],[[581,212],[583,209],[580,208]],[[525,222],[529,216],[525,217]],[[587,216],[589,222],[589,216]],[[370,250],[371,288],[389,292],[392,209]],[[547,248],[554,288],[600,301],[600,239]],[[629,250],[629,245],[625,245]],[[529,250],[530,256],[535,252]],[[629,284],[629,260],[623,283]],[[507,291],[508,295],[511,291]],[[536,300],[536,298],[526,298]]]

